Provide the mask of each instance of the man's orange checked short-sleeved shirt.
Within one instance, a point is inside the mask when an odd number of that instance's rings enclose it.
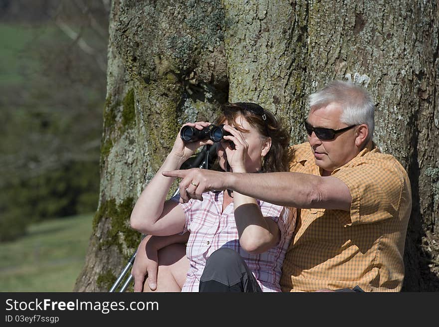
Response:
[[[321,175],[309,143],[293,147],[291,171]],[[370,142],[332,176],[350,189],[350,211],[299,209],[282,267],[283,292],[360,286],[398,292],[404,279],[404,243],[412,208],[409,177]]]

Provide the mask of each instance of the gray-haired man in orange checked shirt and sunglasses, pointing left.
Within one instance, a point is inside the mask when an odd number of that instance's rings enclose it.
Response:
[[[231,189],[300,209],[282,268],[284,292],[400,291],[411,187],[402,165],[372,141],[373,101],[364,88],[333,81],[309,103],[308,142],[293,146],[291,172],[163,174],[183,178],[181,201]]]

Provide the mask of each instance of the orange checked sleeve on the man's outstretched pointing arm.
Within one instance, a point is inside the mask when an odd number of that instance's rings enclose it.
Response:
[[[352,196],[350,218],[345,226],[384,221],[398,216],[404,187],[402,171],[396,162],[364,161],[333,174],[342,180]]]

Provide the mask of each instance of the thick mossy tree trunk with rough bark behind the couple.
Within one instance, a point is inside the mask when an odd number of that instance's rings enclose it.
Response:
[[[132,207],[182,123],[252,101],[303,142],[306,96],[332,79],[368,88],[375,142],[409,172],[404,288],[439,290],[423,248],[439,228],[439,17],[419,2],[115,0],[100,201],[75,290],[108,290],[136,249]]]

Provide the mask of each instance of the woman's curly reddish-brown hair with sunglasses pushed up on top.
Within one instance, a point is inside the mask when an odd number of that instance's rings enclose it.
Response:
[[[222,115],[217,120],[218,125],[227,121],[237,130],[248,132],[236,124],[236,118],[242,116],[261,136],[271,138],[270,150],[264,158],[263,172],[289,171],[292,156],[289,147],[290,136],[270,111],[252,102],[227,103],[222,105],[221,110]]]

